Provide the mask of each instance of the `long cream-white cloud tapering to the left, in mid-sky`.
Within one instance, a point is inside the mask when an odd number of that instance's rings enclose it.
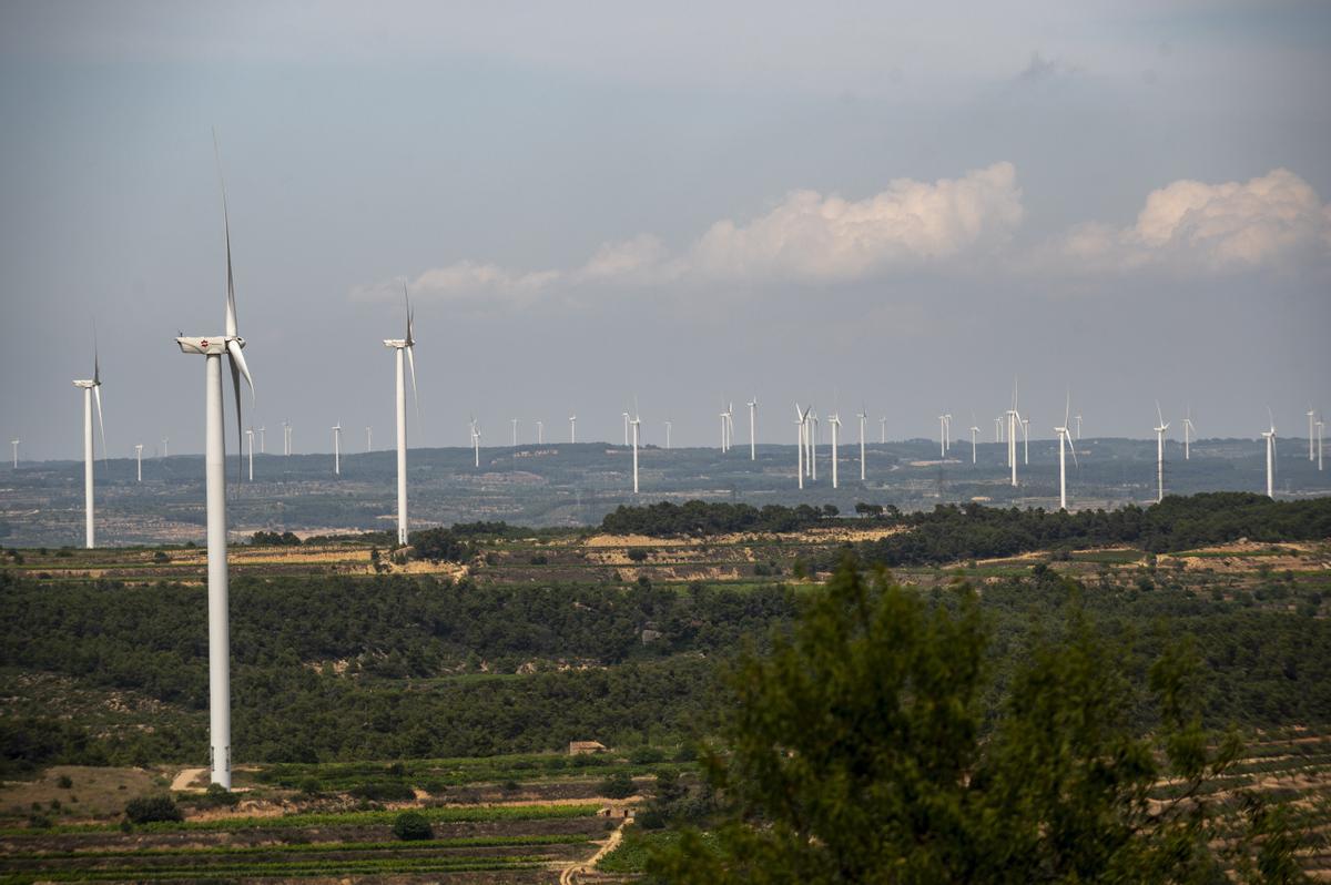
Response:
[[[602,245],[568,270],[459,261],[426,270],[409,285],[417,297],[500,306],[543,298],[580,303],[598,290],[668,282],[855,282],[993,252],[1021,218],[1017,172],[1010,162],[997,162],[932,184],[898,178],[860,201],[796,190],[749,221],[715,222],[679,254],[658,237],[639,234]],[[391,290],[383,283],[355,294],[382,297]]]

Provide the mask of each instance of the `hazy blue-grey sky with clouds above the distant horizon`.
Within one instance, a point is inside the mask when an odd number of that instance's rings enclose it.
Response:
[[[1306,437],[1327,84],[1326,3],[0,0],[0,435],[79,455],[96,327],[109,454],[202,448],[216,129],[270,452],[391,444],[403,286],[411,446]]]

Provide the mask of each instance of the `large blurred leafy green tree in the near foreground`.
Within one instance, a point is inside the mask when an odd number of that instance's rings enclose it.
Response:
[[[1225,881],[1202,796],[1239,748],[1230,737],[1209,749],[1191,700],[1195,653],[1181,647],[1151,668],[1159,728],[1139,737],[1123,651],[1074,607],[1066,635],[1034,640],[984,732],[986,637],[968,587],[930,606],[881,572],[866,580],[847,556],[788,637],[728,672],[704,760],[721,802],[713,838],[684,830],[650,872],[671,882]],[[1147,796],[1161,777],[1181,787],[1158,808]],[[1267,854],[1295,844],[1263,833],[1262,868],[1288,869]]]

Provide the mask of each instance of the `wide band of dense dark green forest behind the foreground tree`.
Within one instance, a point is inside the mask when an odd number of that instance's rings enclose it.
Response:
[[[914,591],[953,606],[948,590]],[[993,696],[1036,635],[1081,599],[1146,663],[1193,636],[1211,724],[1331,723],[1331,621],[1318,591],[1271,576],[1201,598],[1170,575],[1082,588],[1049,568],[988,583]],[[1314,599],[1314,596],[1318,596]],[[232,587],[236,753],[252,761],[469,756],[570,740],[673,743],[713,704],[715,661],[765,645],[816,594],[789,587],[490,587],[435,578],[238,578]],[[79,685],[164,701],[148,729],[97,729],[39,708],[0,717],[9,765],[206,757],[206,606],[200,587],[61,586],[0,572],[0,659]],[[169,711],[168,711],[169,712]],[[1149,727],[1147,712],[1138,717]]]

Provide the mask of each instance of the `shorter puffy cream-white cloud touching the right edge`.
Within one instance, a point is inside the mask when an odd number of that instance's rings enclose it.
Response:
[[[1074,273],[1166,269],[1222,274],[1288,269],[1331,256],[1331,206],[1287,169],[1246,182],[1181,180],[1153,190],[1127,228],[1089,222],[1033,264]]]

